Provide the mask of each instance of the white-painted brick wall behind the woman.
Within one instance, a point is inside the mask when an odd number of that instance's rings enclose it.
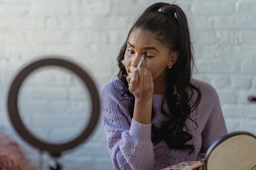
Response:
[[[68,56],[89,72],[100,89],[113,80],[116,56],[132,23],[155,2],[0,0],[0,130],[20,143],[38,169],[38,151],[14,132],[7,116],[8,88],[16,72],[42,55]],[[256,134],[256,103],[247,101],[249,95],[256,95],[256,1],[180,0],[176,3],[185,10],[189,20],[197,65],[194,77],[217,89],[228,132],[244,130]],[[77,88],[75,79],[65,74],[48,72],[34,76],[22,96],[27,97],[21,102],[26,110],[25,122],[49,139],[54,138],[53,134],[60,138],[72,136],[76,133],[72,126],[81,123],[79,113],[86,110],[81,86]],[[44,88],[46,84],[51,88]],[[47,118],[52,108],[62,113],[54,132],[51,128],[44,129],[44,125],[53,127],[56,122],[56,117]],[[38,117],[34,112],[31,114],[33,110],[48,114]],[[61,129],[65,121],[69,121],[67,131]],[[47,154],[42,159],[44,169],[48,169]],[[64,169],[112,169],[101,123],[86,143],[66,153],[61,162]]]

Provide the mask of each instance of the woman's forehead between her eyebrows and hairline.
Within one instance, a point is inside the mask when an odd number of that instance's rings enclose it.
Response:
[[[136,46],[160,46],[163,45],[156,37],[155,34],[142,29],[134,29],[128,40],[131,44]]]

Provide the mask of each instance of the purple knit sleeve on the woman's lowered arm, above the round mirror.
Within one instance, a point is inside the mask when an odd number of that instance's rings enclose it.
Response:
[[[212,95],[214,96],[214,107],[212,107],[205,127],[201,133],[202,147],[197,157],[198,160],[205,157],[206,151],[214,141],[227,134],[219,97],[215,89]]]

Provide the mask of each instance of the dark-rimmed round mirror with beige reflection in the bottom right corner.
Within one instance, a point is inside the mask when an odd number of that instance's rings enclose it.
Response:
[[[208,149],[204,169],[256,169],[256,137],[248,132],[234,132],[214,142]]]

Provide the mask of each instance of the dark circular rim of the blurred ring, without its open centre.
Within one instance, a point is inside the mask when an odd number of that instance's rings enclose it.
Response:
[[[45,56],[42,59],[28,64],[25,68],[20,70],[14,78],[8,94],[9,118],[14,129],[17,131],[20,137],[30,143],[33,147],[38,148],[40,151],[48,151],[52,156],[60,156],[61,152],[72,149],[86,140],[95,129],[100,112],[99,93],[91,77],[77,64],[61,58],[63,58],[63,56]],[[90,92],[92,100],[92,112],[90,121],[77,137],[65,143],[47,142],[34,136],[26,128],[19,115],[17,99],[20,87],[22,86],[24,80],[29,76],[29,74],[31,74],[35,69],[45,66],[59,66],[70,70],[82,80],[83,85],[87,86]]]

